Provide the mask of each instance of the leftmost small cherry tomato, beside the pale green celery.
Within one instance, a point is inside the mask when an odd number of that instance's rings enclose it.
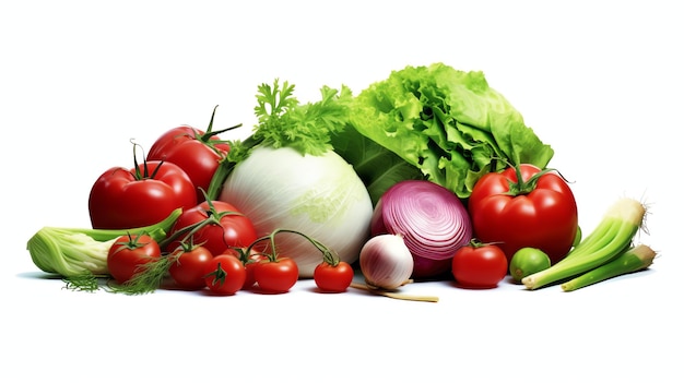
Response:
[[[158,243],[148,235],[121,236],[109,248],[107,268],[119,284],[130,280],[141,265],[158,260],[162,250]]]

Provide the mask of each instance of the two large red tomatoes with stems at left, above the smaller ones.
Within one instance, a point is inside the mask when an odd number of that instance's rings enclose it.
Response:
[[[216,135],[225,130],[212,131],[214,113],[207,132],[187,125],[169,129],[157,137],[142,164],[133,151],[133,168],[117,166],[103,172],[89,199],[93,228],[153,225],[178,207],[204,201],[212,176],[229,151]]]

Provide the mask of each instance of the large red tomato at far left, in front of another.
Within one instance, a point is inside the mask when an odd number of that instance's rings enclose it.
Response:
[[[144,175],[144,164],[139,165]],[[156,224],[176,208],[197,205],[194,185],[172,163],[146,164],[149,178],[137,178],[135,168],[113,167],[91,189],[89,212],[96,229],[129,229]],[[152,178],[154,175],[154,178]]]

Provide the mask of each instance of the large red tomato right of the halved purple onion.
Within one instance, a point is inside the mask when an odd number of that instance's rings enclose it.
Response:
[[[557,173],[521,165],[484,175],[469,200],[474,237],[496,242],[508,261],[521,248],[536,248],[556,263],[570,250],[577,234],[577,204],[567,182]],[[536,183],[529,183],[536,178]]]

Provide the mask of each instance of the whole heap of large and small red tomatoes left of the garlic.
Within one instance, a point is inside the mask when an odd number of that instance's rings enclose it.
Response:
[[[121,236],[109,249],[110,275],[127,291],[152,290],[169,277],[173,287],[182,290],[234,295],[258,287],[282,294],[298,279],[294,260],[257,250],[260,241],[273,238],[257,238],[249,217],[232,204],[207,200],[212,177],[229,151],[216,135],[225,130],[212,132],[214,113],[205,132],[187,125],[166,131],[142,164],[135,156],[139,145],[133,144],[133,168],[113,167],[91,189],[93,228],[154,225],[181,208],[165,240]],[[315,280],[321,291],[340,292],[353,275],[347,263],[331,264],[323,258]]]

